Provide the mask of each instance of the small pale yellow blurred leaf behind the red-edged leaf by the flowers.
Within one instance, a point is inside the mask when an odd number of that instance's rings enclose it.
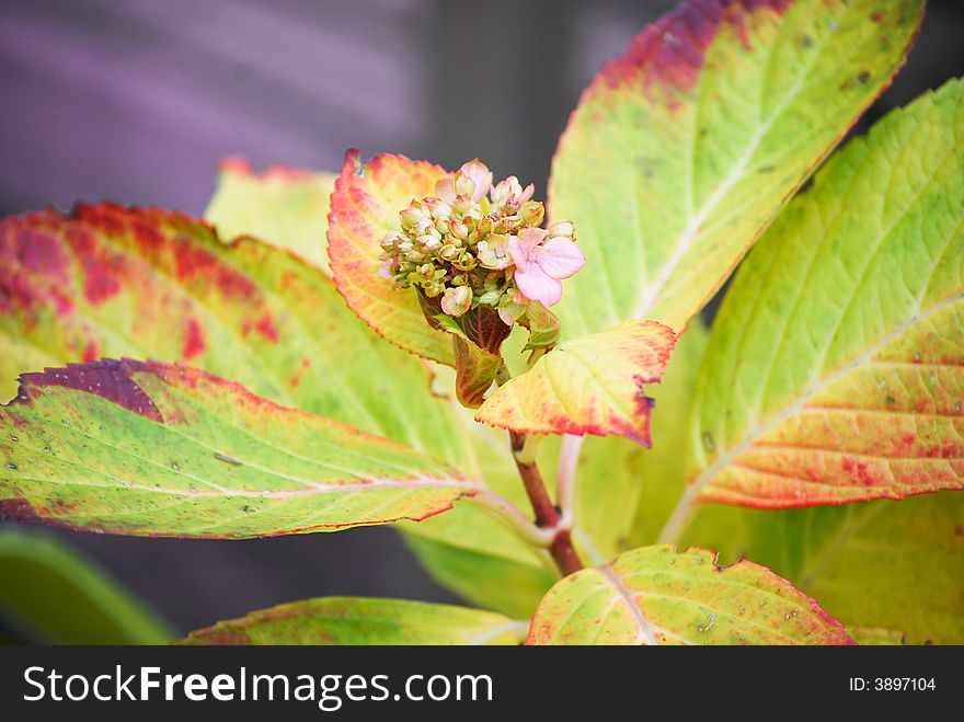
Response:
[[[329,196],[334,173],[274,165],[255,173],[243,158],[221,161],[218,187],[204,211],[223,239],[254,236],[329,272]]]

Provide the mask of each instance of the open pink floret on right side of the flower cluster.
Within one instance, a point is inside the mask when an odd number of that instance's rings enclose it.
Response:
[[[563,236],[546,237],[541,228],[523,229],[518,237],[508,239],[508,253],[516,266],[516,286],[523,296],[540,301],[547,308],[562,298],[562,278],[574,275],[586,263],[586,256],[572,239]]]

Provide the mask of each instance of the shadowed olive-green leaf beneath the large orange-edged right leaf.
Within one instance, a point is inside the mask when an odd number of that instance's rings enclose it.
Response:
[[[684,540],[719,545],[726,561],[765,564],[848,628],[961,644],[962,519],[960,492],[785,511],[703,504]]]

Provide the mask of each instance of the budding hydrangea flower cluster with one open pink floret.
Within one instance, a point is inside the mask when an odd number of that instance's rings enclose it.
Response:
[[[571,222],[539,227],[546,211],[532,192],[514,175],[493,184],[483,163],[469,161],[439,181],[435,196],[399,214],[401,229],[381,242],[381,275],[437,299],[450,317],[490,306],[513,325],[529,301],[553,306],[560,280],[586,259]]]

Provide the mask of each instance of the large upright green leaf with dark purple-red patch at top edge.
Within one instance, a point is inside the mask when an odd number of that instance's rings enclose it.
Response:
[[[922,0],[690,0],[584,91],[549,208],[585,268],[569,337],[631,318],[681,331],[890,83]]]

